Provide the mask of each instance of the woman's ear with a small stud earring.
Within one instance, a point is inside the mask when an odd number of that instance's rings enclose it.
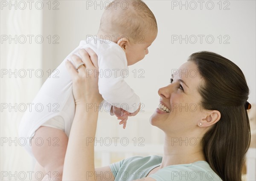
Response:
[[[200,127],[208,127],[217,123],[221,118],[221,113],[217,110],[207,111],[208,113],[198,122]]]

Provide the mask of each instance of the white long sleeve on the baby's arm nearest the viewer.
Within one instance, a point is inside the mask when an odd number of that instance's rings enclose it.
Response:
[[[105,101],[136,115],[140,110],[140,98],[125,82],[128,66],[124,52],[108,51],[99,56],[99,71],[99,92]]]

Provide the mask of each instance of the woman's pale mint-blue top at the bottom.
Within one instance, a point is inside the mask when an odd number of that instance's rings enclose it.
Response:
[[[146,177],[152,169],[160,166],[161,162],[162,157],[157,155],[147,157],[134,156],[113,163],[110,168],[115,176],[115,181],[132,181]],[[206,161],[170,165],[158,170],[149,177],[157,181],[221,181],[221,178]]]

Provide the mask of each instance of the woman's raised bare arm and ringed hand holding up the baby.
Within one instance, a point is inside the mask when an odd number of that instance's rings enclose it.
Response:
[[[97,63],[97,56],[91,49],[87,49],[87,52],[79,51],[82,60],[76,55],[72,57],[76,65],[82,61],[85,63],[85,66],[80,66],[78,71],[70,62],[66,63],[72,77],[76,112],[67,145],[63,180],[94,180],[94,177],[88,178],[88,175],[95,175],[92,139],[95,138],[99,104],[103,99],[99,94],[98,78],[94,77],[95,74],[86,73],[88,69],[97,71],[93,66],[93,63]]]

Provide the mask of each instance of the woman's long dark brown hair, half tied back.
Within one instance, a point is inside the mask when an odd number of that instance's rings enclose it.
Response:
[[[245,108],[249,88],[244,74],[235,63],[212,52],[194,53],[188,61],[195,62],[204,79],[199,90],[203,108],[221,113],[220,120],[202,139],[206,161],[222,180],[241,181],[250,145]]]

